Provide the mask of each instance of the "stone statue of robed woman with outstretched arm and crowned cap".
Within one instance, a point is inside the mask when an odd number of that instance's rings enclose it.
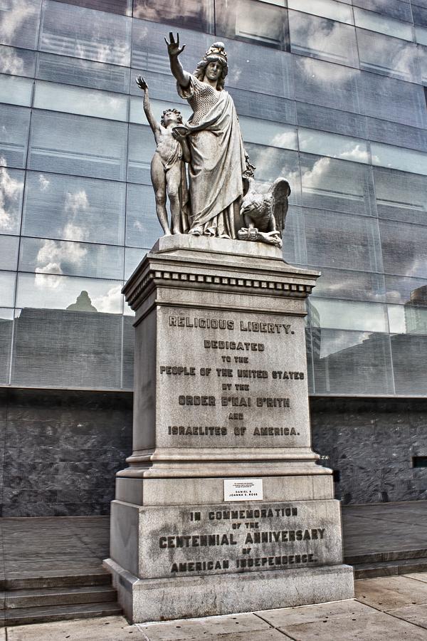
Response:
[[[223,88],[227,54],[222,42],[214,43],[191,74],[178,60],[185,47],[179,46],[179,35],[175,41],[170,33],[169,40],[165,38],[178,93],[193,110],[189,122],[176,127],[186,136],[191,155],[189,234],[234,239],[253,167],[247,163],[233,99]]]

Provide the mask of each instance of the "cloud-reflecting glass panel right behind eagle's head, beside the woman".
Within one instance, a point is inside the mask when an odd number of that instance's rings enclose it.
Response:
[[[290,204],[301,204],[300,165],[297,152],[285,151],[277,147],[263,147],[247,142],[246,152],[249,160],[256,167],[255,178],[258,187],[267,191],[278,177],[286,178],[292,192]]]

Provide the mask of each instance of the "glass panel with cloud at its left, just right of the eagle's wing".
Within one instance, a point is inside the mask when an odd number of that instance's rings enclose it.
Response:
[[[375,215],[371,167],[332,158],[300,155],[302,202],[349,214]]]

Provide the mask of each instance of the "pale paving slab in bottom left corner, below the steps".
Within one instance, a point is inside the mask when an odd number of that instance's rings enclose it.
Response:
[[[1,637],[3,641],[6,637]],[[7,641],[147,641],[144,632],[125,617],[99,617],[17,625],[7,628]]]

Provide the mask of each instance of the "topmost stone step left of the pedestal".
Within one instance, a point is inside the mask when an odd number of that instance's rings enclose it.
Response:
[[[38,575],[9,574],[1,588],[4,590],[29,590],[32,588],[77,588],[90,585],[110,585],[111,575],[104,568],[88,573],[65,571],[63,573],[38,573]]]

